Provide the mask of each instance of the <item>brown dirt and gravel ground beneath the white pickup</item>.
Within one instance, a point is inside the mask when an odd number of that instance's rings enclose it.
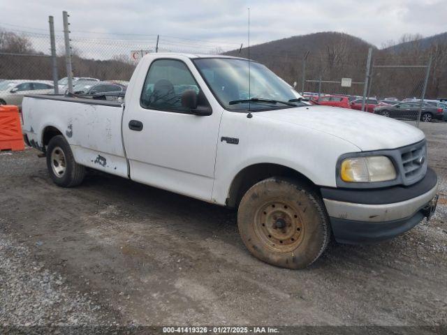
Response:
[[[447,325],[447,123],[430,223],[309,269],[252,257],[234,211],[99,172],[59,188],[38,151],[0,153],[0,325]]]

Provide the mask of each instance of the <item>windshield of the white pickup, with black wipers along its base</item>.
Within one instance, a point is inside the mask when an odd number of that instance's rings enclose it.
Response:
[[[294,101],[301,96],[268,68],[254,61],[250,62],[250,83],[249,61],[245,59],[203,58],[193,61],[214,96],[227,110],[271,110],[307,105],[300,102],[290,105],[274,103]]]

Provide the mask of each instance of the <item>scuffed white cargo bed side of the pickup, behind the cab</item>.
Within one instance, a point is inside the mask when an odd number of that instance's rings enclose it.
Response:
[[[128,177],[122,142],[123,104],[91,98],[28,95],[23,131],[29,144],[43,149],[45,133],[57,131],[70,144],[75,161]]]

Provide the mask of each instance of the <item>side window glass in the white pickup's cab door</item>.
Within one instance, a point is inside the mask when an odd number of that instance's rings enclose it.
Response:
[[[141,107],[170,112],[189,112],[182,107],[182,94],[192,89],[199,93],[200,88],[182,61],[158,59],[153,61],[142,87]]]

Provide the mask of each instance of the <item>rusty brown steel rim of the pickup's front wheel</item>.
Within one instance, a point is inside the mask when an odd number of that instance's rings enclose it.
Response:
[[[267,202],[258,209],[254,220],[254,231],[270,250],[289,253],[301,244],[305,226],[300,211],[295,206],[276,200]]]

